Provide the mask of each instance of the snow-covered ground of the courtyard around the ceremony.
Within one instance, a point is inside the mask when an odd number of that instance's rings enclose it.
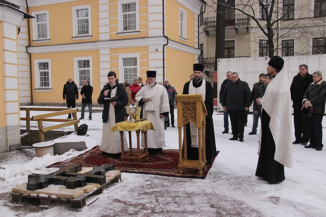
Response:
[[[31,112],[31,115],[41,114]],[[176,113],[175,113],[176,114]],[[87,117],[88,113],[85,114]],[[69,136],[69,140],[86,141],[91,149],[99,145],[102,135],[101,113],[93,120],[81,120],[88,125],[89,137]],[[24,112],[21,112],[24,117]],[[66,116],[62,116],[65,118]],[[78,114],[80,117],[80,113]],[[213,116],[216,147],[220,151],[206,179],[185,179],[144,174],[122,174],[122,183],[108,188],[104,194],[92,196],[81,212],[70,211],[69,204],[56,204],[48,210],[35,205],[11,204],[9,192],[16,184],[27,181],[30,173],[49,173],[45,167],[82,152],[70,150],[60,156],[34,157],[26,162],[17,159],[2,164],[0,170],[1,216],[325,216],[326,181],[325,155],[322,151],[293,146],[293,168],[285,168],[285,181],[267,184],[255,176],[258,135],[248,135],[252,115],[248,115],[244,142],[229,141],[231,134],[222,134],[223,115]],[[54,123],[45,123],[50,126]],[[21,122],[22,128],[24,121]],[[37,128],[37,122],[32,122]],[[323,120],[326,127],[326,119]],[[259,126],[260,127],[260,126]],[[72,130],[73,126],[64,130]],[[259,131],[259,130],[258,130]],[[324,129],[324,135],[326,130]],[[177,128],[166,131],[166,148],[178,148]],[[292,133],[294,141],[294,129]],[[324,137],[323,143],[326,144]]]

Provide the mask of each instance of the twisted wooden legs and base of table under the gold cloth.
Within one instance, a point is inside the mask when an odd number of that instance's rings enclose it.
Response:
[[[123,132],[120,130],[120,140],[121,140],[121,161],[122,164],[125,164],[125,159],[137,159],[138,164],[141,164],[141,158],[145,157],[145,161],[148,161],[148,151],[147,151],[147,131],[144,132],[144,140],[145,140],[145,147],[144,147],[144,153],[141,153],[140,148],[140,130],[136,130],[137,134],[137,153],[132,152],[132,144],[131,144],[131,131],[129,132],[129,153],[125,155],[124,152],[124,141],[123,141]],[[134,156],[137,155],[137,156]]]

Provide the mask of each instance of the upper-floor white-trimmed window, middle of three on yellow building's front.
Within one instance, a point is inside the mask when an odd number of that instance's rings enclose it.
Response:
[[[73,37],[91,36],[91,5],[72,7]]]

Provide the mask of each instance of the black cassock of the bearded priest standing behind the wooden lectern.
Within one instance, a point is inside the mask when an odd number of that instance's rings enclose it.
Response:
[[[189,94],[189,85],[191,81],[188,81],[184,85],[182,94]],[[199,84],[193,82],[195,88],[199,88],[202,84],[202,80]],[[216,145],[215,145],[215,135],[214,135],[214,125],[213,125],[213,88],[210,82],[206,81],[206,96],[205,96],[205,106],[207,110],[206,115],[206,126],[205,126],[205,144],[206,144],[206,160],[207,164],[212,163],[213,157],[217,156],[216,154]],[[182,147],[183,150],[183,147]],[[187,159],[188,160],[198,160],[198,148],[191,147],[191,133],[190,133],[190,124],[187,124]]]

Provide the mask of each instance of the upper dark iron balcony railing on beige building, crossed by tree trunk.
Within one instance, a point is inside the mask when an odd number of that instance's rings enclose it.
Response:
[[[229,14],[225,16],[225,26],[249,25],[249,17],[244,14]],[[215,28],[216,17],[204,18],[204,28]]]

